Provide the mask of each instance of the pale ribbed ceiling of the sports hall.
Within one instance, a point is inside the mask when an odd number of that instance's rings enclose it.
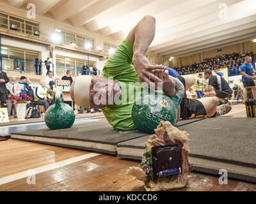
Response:
[[[1,0],[2,1],[2,0]],[[150,51],[167,57],[195,54],[256,38],[256,0],[4,0],[36,4],[36,15],[71,22],[124,39],[144,16],[156,17]]]

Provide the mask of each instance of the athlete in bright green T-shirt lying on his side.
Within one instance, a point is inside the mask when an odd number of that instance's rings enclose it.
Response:
[[[175,96],[175,82],[169,77],[168,70],[164,71],[164,66],[151,65],[145,56],[154,39],[155,27],[154,17],[143,17],[116,48],[115,53],[109,56],[102,77],[83,75],[74,80],[70,90],[73,101],[83,107],[102,108],[114,129],[129,130],[136,129],[131,111],[134,101],[143,89],[141,82],[146,83],[148,87],[152,84],[162,84],[166,96]],[[177,78],[186,89],[195,83],[195,78],[189,76]],[[125,100],[120,102],[120,99]],[[231,109],[231,106],[224,105],[216,112],[217,104],[216,97],[187,99],[185,94],[177,119],[223,115]]]

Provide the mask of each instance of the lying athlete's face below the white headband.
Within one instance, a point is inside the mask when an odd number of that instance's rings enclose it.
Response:
[[[115,80],[101,76],[92,77],[90,85],[90,103],[92,108],[102,108],[111,105],[115,96],[118,97],[120,94],[120,86]]]

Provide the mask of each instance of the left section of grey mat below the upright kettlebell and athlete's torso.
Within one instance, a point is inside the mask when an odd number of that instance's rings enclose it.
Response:
[[[12,133],[11,138],[61,147],[116,154],[117,143],[145,135],[147,135],[147,133],[141,133],[138,130],[113,130],[108,121],[104,119],[77,124],[68,129],[50,130],[45,128]]]

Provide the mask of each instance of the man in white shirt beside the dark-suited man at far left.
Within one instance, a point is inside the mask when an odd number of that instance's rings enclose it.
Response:
[[[12,76],[10,78],[10,82],[8,82],[6,84],[6,87],[7,87],[7,90],[8,90],[8,97],[9,96],[12,96],[12,97],[20,96],[21,89],[20,89],[19,83],[16,82],[16,77],[15,76]],[[8,99],[7,100],[7,110],[8,110],[8,115],[9,116],[11,115],[12,108],[14,108],[13,117],[17,117],[17,115],[16,115],[16,107]]]

